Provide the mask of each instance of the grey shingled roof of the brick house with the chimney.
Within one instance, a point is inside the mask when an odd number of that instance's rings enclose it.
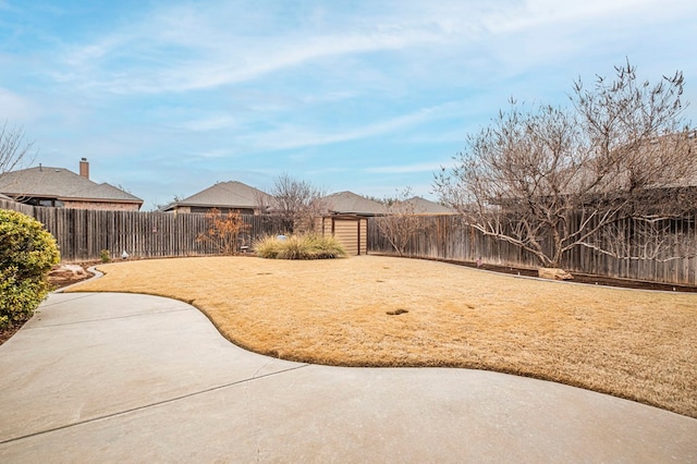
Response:
[[[113,185],[97,184],[64,168],[41,166],[3,173],[0,192],[11,197],[143,204],[143,199]]]

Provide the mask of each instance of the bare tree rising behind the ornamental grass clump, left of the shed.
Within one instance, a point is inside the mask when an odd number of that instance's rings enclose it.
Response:
[[[315,219],[327,210],[326,193],[306,181],[281,174],[271,191],[273,197],[269,212],[276,215],[288,232],[308,232]]]

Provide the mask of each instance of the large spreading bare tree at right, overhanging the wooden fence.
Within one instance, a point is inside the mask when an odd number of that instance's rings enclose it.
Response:
[[[590,89],[578,80],[571,108],[528,110],[511,101],[467,138],[454,168],[436,174],[441,200],[466,224],[533,253],[546,267],[559,267],[579,246],[655,258],[656,228],[644,228],[641,240],[655,241],[648,255],[615,240],[626,221],[658,224],[694,207],[676,199],[695,196],[696,188],[681,186],[697,179],[694,131],[682,115],[683,76],[651,85],[638,82],[628,63],[615,71],[614,81],[599,76]]]

